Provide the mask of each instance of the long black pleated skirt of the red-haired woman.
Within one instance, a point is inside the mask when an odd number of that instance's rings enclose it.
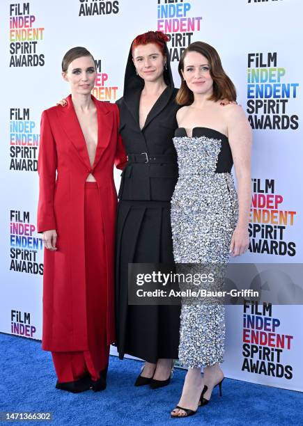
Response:
[[[150,363],[178,358],[180,306],[128,305],[128,263],[173,263],[171,204],[127,201],[118,204],[116,230],[116,346],[119,357]]]

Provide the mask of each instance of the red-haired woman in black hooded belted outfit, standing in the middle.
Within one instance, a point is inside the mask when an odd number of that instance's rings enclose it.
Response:
[[[167,36],[148,31],[132,42],[120,132],[128,156],[118,194],[116,242],[116,344],[146,361],[135,386],[169,384],[178,358],[180,306],[128,305],[129,263],[173,263],[171,196],[178,179],[173,135],[177,89]]]

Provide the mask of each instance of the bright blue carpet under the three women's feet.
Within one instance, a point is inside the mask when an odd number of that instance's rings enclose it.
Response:
[[[177,369],[166,388],[135,388],[141,363],[111,356],[107,389],[75,395],[54,388],[52,358],[40,342],[0,333],[0,347],[0,411],[50,411],[49,425],[303,425],[303,395],[292,390],[225,379],[222,398],[216,389],[211,403],[195,416],[171,419],[184,370]]]

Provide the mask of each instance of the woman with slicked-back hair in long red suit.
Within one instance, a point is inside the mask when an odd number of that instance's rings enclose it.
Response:
[[[126,161],[118,107],[91,95],[96,70],[84,47],[62,61],[67,105],[42,113],[38,232],[45,242],[42,348],[52,352],[56,388],[106,386],[114,342],[113,166]]]

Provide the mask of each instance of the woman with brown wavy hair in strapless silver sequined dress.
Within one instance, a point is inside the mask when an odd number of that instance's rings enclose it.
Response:
[[[173,139],[179,178],[171,203],[174,260],[224,265],[230,255],[240,255],[249,246],[251,129],[213,47],[204,42],[189,45],[179,73],[182,84],[176,100],[182,108]],[[218,384],[221,395],[224,327],[222,304],[182,303],[179,359],[188,372],[171,416],[196,413]]]

